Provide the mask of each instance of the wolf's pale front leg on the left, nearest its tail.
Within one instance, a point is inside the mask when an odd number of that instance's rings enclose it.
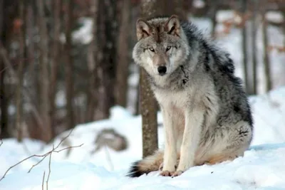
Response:
[[[165,130],[165,154],[163,156],[162,176],[171,176],[175,172],[177,161],[176,131],[174,129],[175,113],[173,109],[162,108],[162,119]]]

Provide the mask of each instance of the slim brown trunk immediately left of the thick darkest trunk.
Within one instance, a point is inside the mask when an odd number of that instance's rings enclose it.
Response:
[[[98,63],[98,38],[96,33],[98,31],[98,0],[92,1],[92,14],[93,14],[93,40],[88,48],[88,71],[89,71],[89,88],[87,88],[87,115],[86,122],[93,121],[95,115],[95,105],[96,105],[96,63]]]

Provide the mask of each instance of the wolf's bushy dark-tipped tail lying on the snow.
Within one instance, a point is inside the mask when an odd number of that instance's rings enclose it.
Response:
[[[134,162],[130,167],[127,176],[136,177],[142,174],[148,174],[150,171],[157,171],[160,164],[163,162],[163,152],[157,150],[154,154],[145,157],[144,159]]]

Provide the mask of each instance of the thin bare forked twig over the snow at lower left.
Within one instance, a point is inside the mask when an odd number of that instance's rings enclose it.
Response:
[[[74,129],[74,128],[73,128],[73,129]],[[33,169],[33,167],[36,167],[38,164],[40,164],[40,163],[43,161],[43,159],[45,159],[46,157],[48,157],[48,155],[50,156],[50,158],[49,158],[49,165],[48,165],[48,166],[49,166],[48,178],[49,178],[49,175],[50,175],[50,173],[51,173],[51,170],[50,170],[50,167],[51,167],[51,153],[53,153],[53,152],[58,153],[58,152],[61,152],[61,151],[63,151],[63,150],[66,150],[66,149],[77,148],[77,147],[81,147],[81,146],[83,145],[83,144],[80,144],[80,145],[78,145],[78,146],[70,146],[70,147],[65,147],[65,148],[63,148],[63,149],[56,150],[56,149],[58,149],[58,147],[62,144],[62,142],[63,142],[65,139],[67,139],[67,138],[71,135],[71,132],[73,132],[73,129],[68,133],[68,135],[67,135],[66,137],[64,137],[63,139],[61,139],[61,142],[59,142],[56,147],[54,147],[54,144],[53,144],[53,149],[51,149],[51,151],[49,151],[49,152],[46,152],[46,154],[33,154],[33,155],[29,156],[29,157],[26,157],[25,159],[22,159],[20,162],[14,164],[13,166],[9,167],[9,169],[7,169],[6,172],[4,173],[4,175],[1,177],[0,181],[1,181],[2,179],[4,179],[4,177],[6,176],[6,174],[8,173],[8,171],[10,171],[10,170],[13,169],[14,167],[18,166],[18,165],[21,164],[22,162],[25,162],[27,159],[30,159],[30,158],[32,158],[32,157],[42,157],[42,158],[40,159],[40,161],[38,161],[36,164],[33,164],[33,166],[28,170],[28,173],[29,173],[29,172]]]

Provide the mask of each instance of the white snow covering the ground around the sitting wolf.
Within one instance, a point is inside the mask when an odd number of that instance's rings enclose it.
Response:
[[[244,157],[233,162],[192,167],[173,179],[158,176],[157,171],[129,179],[125,174],[131,162],[142,157],[141,117],[133,117],[122,107],[113,107],[110,119],[78,125],[63,143],[83,144],[82,147],[72,149],[69,154],[67,151],[52,154],[48,189],[285,189],[285,87],[249,100],[254,112],[254,139]],[[158,122],[162,122],[160,112]],[[101,149],[91,154],[95,135],[105,127],[124,134],[128,149],[123,152]],[[56,146],[67,134],[61,134],[53,144]],[[162,127],[159,127],[160,147],[163,141]],[[44,146],[31,139],[25,139],[22,144],[5,139],[0,147],[0,177],[21,159],[44,154],[52,148],[52,144]],[[33,157],[11,169],[0,181],[0,189],[42,189],[44,171],[46,189],[48,157],[27,173],[39,159]]]

